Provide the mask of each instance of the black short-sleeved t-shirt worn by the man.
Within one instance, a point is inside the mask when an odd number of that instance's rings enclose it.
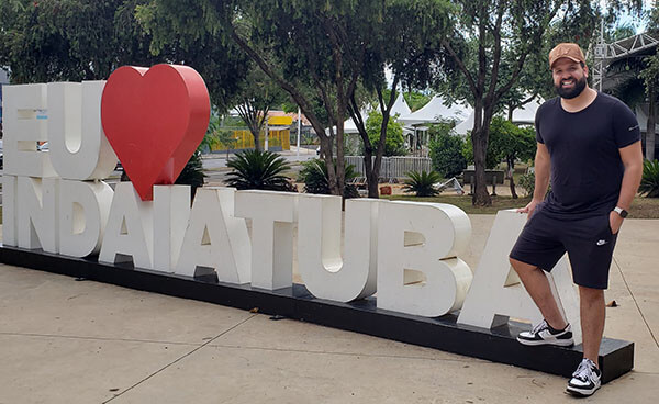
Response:
[[[615,207],[624,173],[618,148],[638,142],[640,131],[627,105],[599,92],[574,113],[558,97],[545,102],[536,114],[536,139],[551,159],[551,192],[543,209],[587,217]]]

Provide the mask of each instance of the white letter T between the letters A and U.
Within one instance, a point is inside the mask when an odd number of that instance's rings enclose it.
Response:
[[[275,290],[293,284],[293,223],[298,194],[237,191],[236,217],[252,218],[252,285]]]

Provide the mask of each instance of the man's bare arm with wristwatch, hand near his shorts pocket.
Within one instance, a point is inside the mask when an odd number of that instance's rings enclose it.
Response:
[[[640,141],[621,148],[619,153],[623,166],[625,166],[625,173],[623,176],[621,194],[616,206],[629,210],[634,195],[636,195],[636,192],[638,191],[640,178],[643,177],[643,150],[640,148]],[[615,234],[623,225],[623,217],[615,211],[612,211],[608,215],[608,224],[611,225],[611,231]]]

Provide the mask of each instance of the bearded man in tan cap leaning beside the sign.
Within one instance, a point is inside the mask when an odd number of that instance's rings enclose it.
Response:
[[[588,87],[588,67],[577,44],[549,53],[557,98],[536,114],[535,192],[528,222],[510,255],[511,265],[543,313],[521,333],[524,345],[573,345],[543,271],[567,251],[579,285],[583,360],[567,391],[591,395],[601,385],[597,364],[604,332],[604,289],[617,233],[643,173],[636,117],[619,100]],[[551,191],[545,198],[549,179]]]

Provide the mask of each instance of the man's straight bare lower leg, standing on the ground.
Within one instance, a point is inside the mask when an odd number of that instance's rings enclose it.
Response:
[[[600,356],[600,343],[604,334],[604,291],[579,287],[581,333],[583,335],[583,357],[592,360],[595,366]]]

